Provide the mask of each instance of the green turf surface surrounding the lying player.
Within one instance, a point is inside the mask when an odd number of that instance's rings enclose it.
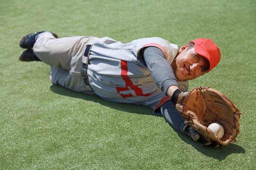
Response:
[[[255,170],[254,0],[0,0],[0,169]],[[25,34],[159,36],[182,46],[207,37],[216,69],[190,82],[225,93],[243,111],[238,142],[212,149],[152,110],[52,85],[49,67],[20,62]]]

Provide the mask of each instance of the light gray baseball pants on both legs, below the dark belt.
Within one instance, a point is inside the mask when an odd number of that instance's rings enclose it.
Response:
[[[37,36],[33,51],[41,61],[51,66],[53,84],[93,94],[91,87],[84,84],[80,72],[85,46],[94,39],[84,36],[55,38],[50,32],[44,32]]]

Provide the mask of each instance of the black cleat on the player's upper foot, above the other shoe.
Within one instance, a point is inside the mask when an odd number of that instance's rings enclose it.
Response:
[[[40,33],[43,33],[45,31],[39,31],[39,32],[35,32],[35,33],[31,33],[31,34],[27,34],[25,35],[19,42],[19,46],[21,48],[25,48],[25,49],[32,49],[34,44],[36,43],[36,38],[37,38],[37,35],[40,34]],[[52,32],[51,32],[52,33]],[[55,34],[55,33],[52,33],[53,36],[55,38],[58,38],[58,35]]]

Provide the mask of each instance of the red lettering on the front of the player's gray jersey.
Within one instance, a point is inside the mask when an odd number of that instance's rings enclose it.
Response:
[[[123,80],[126,83],[125,87],[117,87],[117,92],[120,93],[121,91],[128,91],[130,90],[128,87],[130,87],[132,90],[134,90],[135,94],[137,96],[149,96],[150,93],[146,93],[144,94],[142,89],[139,88],[137,85],[133,85],[131,79],[128,77],[128,66],[127,66],[127,61],[122,61],[121,60],[121,76],[123,77]],[[127,97],[133,97],[133,95],[131,93],[129,94],[121,94],[120,95],[123,98],[127,98]]]

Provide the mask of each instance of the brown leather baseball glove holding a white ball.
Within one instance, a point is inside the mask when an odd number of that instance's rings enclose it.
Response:
[[[183,101],[180,114],[185,123],[196,129],[208,144],[215,143],[219,147],[236,142],[242,113],[219,91],[210,87],[192,89]],[[208,128],[211,123],[219,123],[224,127],[225,132],[221,139]]]

